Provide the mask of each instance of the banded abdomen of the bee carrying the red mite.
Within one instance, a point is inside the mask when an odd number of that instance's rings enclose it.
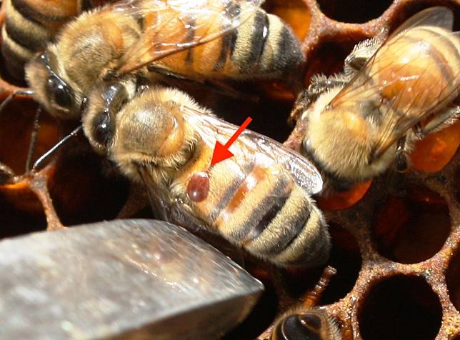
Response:
[[[227,178],[218,209],[206,216],[209,223],[234,244],[281,266],[325,260],[329,234],[306,192],[285,171],[253,164],[245,172],[244,177]],[[212,172],[210,176],[212,181]]]

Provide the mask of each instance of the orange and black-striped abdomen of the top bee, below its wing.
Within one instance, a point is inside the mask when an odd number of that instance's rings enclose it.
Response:
[[[234,17],[240,6],[229,4],[225,13]],[[240,20],[244,22],[236,29],[155,65],[191,79],[264,79],[294,73],[304,64],[299,40],[278,16],[256,8]],[[195,33],[193,25],[188,26],[190,34]]]

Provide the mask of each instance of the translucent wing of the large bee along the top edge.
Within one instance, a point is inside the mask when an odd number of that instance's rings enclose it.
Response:
[[[263,0],[125,0],[106,10],[143,21],[144,33],[116,68],[121,74],[184,49],[205,44],[236,29]]]

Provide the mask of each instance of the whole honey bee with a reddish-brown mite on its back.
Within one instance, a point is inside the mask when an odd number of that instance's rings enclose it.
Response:
[[[159,86],[116,114],[84,113],[83,122],[96,151],[146,184],[159,218],[204,226],[279,266],[328,258],[329,231],[310,196],[321,191],[321,176],[278,142],[246,130],[229,147],[234,156],[210,166],[216,139],[229,139],[236,126]]]

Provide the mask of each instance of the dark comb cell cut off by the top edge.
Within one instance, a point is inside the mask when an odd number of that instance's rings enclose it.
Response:
[[[392,0],[319,0],[321,11],[329,18],[341,22],[361,24],[376,19],[389,8]]]

